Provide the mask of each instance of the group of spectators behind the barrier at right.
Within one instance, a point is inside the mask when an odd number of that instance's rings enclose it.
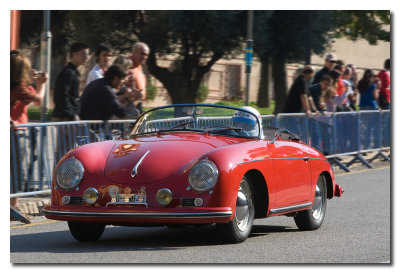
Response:
[[[347,112],[356,111],[357,104],[360,110],[390,109],[390,59],[385,60],[378,74],[366,69],[358,80],[353,64],[346,65],[329,53],[324,67],[315,75],[312,66],[304,66],[289,89],[282,112]]]

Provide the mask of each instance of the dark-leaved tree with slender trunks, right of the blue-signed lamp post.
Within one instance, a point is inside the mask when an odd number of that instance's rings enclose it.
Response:
[[[272,64],[275,112],[286,100],[286,63],[304,62],[307,52],[323,54],[333,38],[365,39],[374,45],[390,41],[389,11],[260,11],[255,33],[254,51],[260,57],[262,71]],[[310,20],[311,18],[311,20]],[[309,35],[311,33],[311,35]],[[258,105],[265,105],[268,90],[261,78]]]

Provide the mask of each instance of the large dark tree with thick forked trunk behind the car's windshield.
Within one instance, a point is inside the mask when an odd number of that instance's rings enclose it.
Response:
[[[243,11],[85,11],[82,16],[71,13],[74,25],[80,26],[79,30],[75,28],[76,33],[86,33],[90,44],[108,40],[126,52],[135,41],[147,43],[148,70],[164,85],[173,103],[195,102],[203,76],[211,66],[241,49],[246,25]],[[98,24],[100,18],[102,24]],[[158,64],[158,58],[170,54],[176,57],[172,67]]]

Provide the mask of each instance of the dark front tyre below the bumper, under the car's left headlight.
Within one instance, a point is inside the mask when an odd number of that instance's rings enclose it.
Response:
[[[101,223],[68,222],[72,236],[80,242],[94,242],[104,232],[105,225]]]

